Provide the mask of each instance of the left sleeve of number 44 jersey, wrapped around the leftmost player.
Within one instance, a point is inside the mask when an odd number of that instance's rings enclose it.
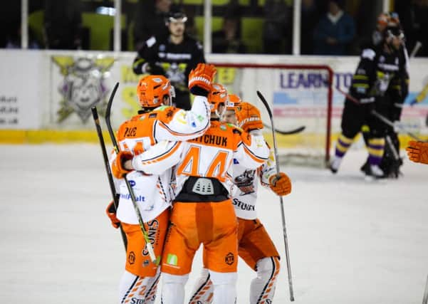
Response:
[[[182,150],[182,142],[158,142],[150,150],[132,158],[132,167],[145,174],[162,174],[179,162]]]

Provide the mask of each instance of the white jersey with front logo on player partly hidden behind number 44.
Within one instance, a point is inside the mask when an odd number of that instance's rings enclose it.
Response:
[[[231,199],[236,216],[240,219],[257,219],[256,201],[259,182],[263,186],[268,186],[269,179],[276,174],[273,153],[257,169],[249,169],[243,166],[239,160],[234,159],[233,172],[232,181],[235,187]]]

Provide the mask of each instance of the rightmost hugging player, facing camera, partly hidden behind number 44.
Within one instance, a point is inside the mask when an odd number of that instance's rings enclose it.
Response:
[[[230,98],[234,100],[234,97]],[[263,129],[259,110],[249,103],[232,102],[228,107],[224,122],[239,125],[250,134],[260,135]],[[236,115],[235,115],[236,112]],[[238,217],[239,256],[256,271],[251,281],[250,303],[273,303],[280,263],[279,253],[261,221],[257,218],[256,201],[259,181],[263,186],[271,187],[277,195],[291,192],[291,181],[281,172],[276,174],[273,154],[258,169],[249,169],[234,161],[233,179],[236,191],[231,199]],[[206,267],[194,286],[189,304],[212,303],[213,285]]]

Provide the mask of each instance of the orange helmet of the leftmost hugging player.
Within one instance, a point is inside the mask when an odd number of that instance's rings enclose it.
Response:
[[[137,96],[142,108],[156,108],[163,104],[165,96],[171,103],[174,87],[165,76],[147,75],[137,85]]]

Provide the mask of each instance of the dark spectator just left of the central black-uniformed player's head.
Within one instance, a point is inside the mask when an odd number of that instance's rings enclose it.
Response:
[[[140,0],[134,25],[134,48],[139,50],[152,36],[167,36],[165,25],[172,0]]]

